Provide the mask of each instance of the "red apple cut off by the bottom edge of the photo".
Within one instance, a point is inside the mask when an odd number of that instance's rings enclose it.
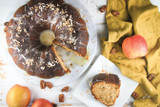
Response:
[[[40,98],[34,101],[31,107],[53,107],[53,105],[48,100]]]

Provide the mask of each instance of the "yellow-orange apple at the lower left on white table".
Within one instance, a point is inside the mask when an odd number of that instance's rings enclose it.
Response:
[[[30,90],[27,87],[14,85],[7,93],[6,101],[9,107],[27,107],[31,99]]]

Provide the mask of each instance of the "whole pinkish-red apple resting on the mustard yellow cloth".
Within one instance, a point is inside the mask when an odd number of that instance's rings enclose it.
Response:
[[[143,57],[148,52],[146,40],[140,35],[134,35],[124,39],[122,43],[124,55],[129,59]]]

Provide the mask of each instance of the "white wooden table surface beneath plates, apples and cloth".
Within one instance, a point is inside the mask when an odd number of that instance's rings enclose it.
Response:
[[[10,13],[11,9],[17,3],[18,0],[0,0],[0,36],[4,29],[4,22],[7,21],[6,18]],[[106,36],[106,25],[105,25],[105,14],[100,13],[98,8],[105,5],[107,0],[79,0],[89,11],[91,17],[95,21],[98,36]],[[155,5],[160,5],[160,1],[152,0],[152,3]],[[1,44],[0,44],[1,45]],[[97,55],[100,54],[100,48],[97,49]],[[87,70],[88,71],[88,70]],[[86,72],[87,72],[86,71]],[[71,87],[71,90],[68,93],[65,93],[65,102],[59,103],[58,95],[61,93],[61,89],[63,86],[54,87],[53,89],[45,89],[41,90],[40,87],[33,86],[29,83],[26,83],[23,79],[18,77],[8,77],[5,71],[0,71],[0,106],[7,106],[6,104],[6,94],[11,86],[14,84],[21,84],[29,87],[31,90],[32,101],[37,98],[45,98],[51,102],[55,102],[58,106],[64,106],[63,104],[72,104],[72,106],[86,106],[76,98],[72,97],[72,91],[79,83],[79,81],[83,78],[86,72],[78,78],[76,81],[72,83],[66,84]],[[12,78],[12,79],[10,79]],[[133,101],[132,98],[128,99],[127,103]],[[32,102],[31,102],[32,103]]]

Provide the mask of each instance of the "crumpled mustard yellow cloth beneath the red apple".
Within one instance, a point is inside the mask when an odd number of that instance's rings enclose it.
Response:
[[[120,15],[115,17],[112,11]],[[114,62],[122,74],[139,82],[135,92],[134,107],[157,107],[160,105],[160,13],[149,0],[108,0],[106,21],[108,41],[103,40],[102,54]],[[140,34],[147,41],[148,54],[143,58],[128,59],[121,45],[127,36]],[[112,48],[117,52],[111,54]],[[152,81],[147,79],[151,73],[156,75]]]

